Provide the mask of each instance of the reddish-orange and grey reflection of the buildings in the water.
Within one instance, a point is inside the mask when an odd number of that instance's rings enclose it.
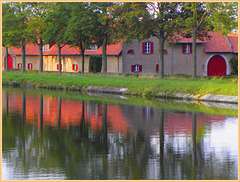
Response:
[[[26,95],[26,122],[36,123],[40,127],[40,98],[38,95]],[[100,103],[84,102],[84,115],[82,101],[61,100],[61,127],[78,126],[84,116],[93,130],[103,129],[103,106]],[[59,99],[52,96],[43,96],[43,125],[58,127],[59,125]],[[22,93],[8,94],[8,107],[10,112],[22,112]],[[3,92],[3,112],[6,111],[6,92]],[[167,135],[191,135],[192,114],[187,112],[164,111],[164,133]],[[150,107],[131,105],[107,104],[108,131],[134,133],[142,131],[151,136],[159,131],[162,110]],[[197,132],[206,129],[213,122],[221,122],[225,116],[197,115]]]

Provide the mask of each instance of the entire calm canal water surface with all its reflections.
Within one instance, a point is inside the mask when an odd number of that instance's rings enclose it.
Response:
[[[3,180],[237,180],[236,109],[3,88]]]

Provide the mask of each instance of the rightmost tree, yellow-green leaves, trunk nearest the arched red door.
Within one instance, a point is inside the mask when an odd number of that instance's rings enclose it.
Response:
[[[192,42],[192,78],[197,77],[196,40],[207,37],[209,30],[229,33],[237,27],[237,3],[185,3],[185,35],[191,36]]]

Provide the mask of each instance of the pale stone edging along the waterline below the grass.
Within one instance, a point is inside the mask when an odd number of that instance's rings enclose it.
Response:
[[[116,94],[116,95],[135,95],[128,91],[128,88],[117,88],[117,87],[104,87],[104,86],[87,86],[86,88],[74,88],[74,87],[49,87],[49,86],[39,86],[34,83],[22,84],[15,81],[8,81],[2,83],[5,86],[14,87],[27,87],[27,88],[44,88],[44,89],[58,89],[58,90],[73,90],[80,92],[96,92],[96,93],[106,93],[106,94]],[[163,99],[178,99],[178,100],[193,100],[193,101],[205,101],[205,102],[220,102],[220,103],[231,103],[238,104],[238,96],[227,96],[227,95],[212,95],[206,94],[204,96],[191,95],[183,93],[169,93],[169,92],[158,92],[156,95],[142,95],[146,97],[156,97]]]

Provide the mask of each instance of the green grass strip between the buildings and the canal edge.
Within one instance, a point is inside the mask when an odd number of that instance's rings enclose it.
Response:
[[[214,95],[238,95],[238,79],[232,77],[198,77],[192,80],[191,76],[166,76],[159,79],[156,76],[147,75],[123,75],[123,74],[74,74],[45,72],[36,74],[3,72],[3,85],[29,84],[34,87],[66,88],[69,90],[84,89],[87,86],[125,87],[129,94],[156,95],[158,92],[186,93],[186,94],[214,94]]]

